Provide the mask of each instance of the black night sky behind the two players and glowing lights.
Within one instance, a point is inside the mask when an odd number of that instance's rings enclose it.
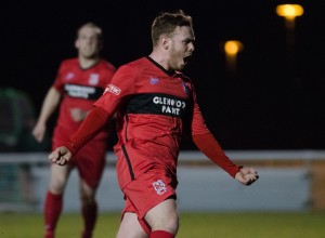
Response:
[[[324,149],[325,1],[297,1],[289,50],[280,0],[6,2],[1,6],[1,88],[27,92],[39,113],[60,62],[76,55],[75,32],[92,21],[104,29],[103,56],[120,66],[151,52],[150,25],[160,11],[194,18],[196,52],[184,70],[197,88],[207,124],[225,149]],[[221,42],[244,43],[235,75]],[[190,146],[191,147],[191,146]]]

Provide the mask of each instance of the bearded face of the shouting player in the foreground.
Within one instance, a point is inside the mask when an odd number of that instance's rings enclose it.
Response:
[[[171,36],[169,68],[182,70],[194,51],[194,31],[190,26],[177,27]]]

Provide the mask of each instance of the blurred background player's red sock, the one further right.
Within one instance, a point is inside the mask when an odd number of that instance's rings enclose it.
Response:
[[[82,217],[84,222],[82,238],[91,238],[98,219],[98,203],[93,202],[88,206],[82,206],[81,210],[82,210]]]

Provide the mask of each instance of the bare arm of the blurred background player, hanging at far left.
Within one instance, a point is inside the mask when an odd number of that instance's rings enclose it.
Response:
[[[60,104],[61,95],[61,92],[58,92],[54,87],[51,87],[44,97],[40,115],[31,132],[36,141],[39,143],[43,141],[47,131],[47,122]]]

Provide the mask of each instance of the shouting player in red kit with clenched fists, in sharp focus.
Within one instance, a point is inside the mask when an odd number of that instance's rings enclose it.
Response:
[[[77,133],[49,155],[56,164],[68,163],[116,114],[117,176],[126,199],[118,238],[178,234],[177,164],[183,134],[243,185],[258,178],[256,169],[237,166],[224,154],[205,123],[193,81],[181,72],[194,41],[190,15],[160,13],[152,25],[152,53],[121,66]]]

